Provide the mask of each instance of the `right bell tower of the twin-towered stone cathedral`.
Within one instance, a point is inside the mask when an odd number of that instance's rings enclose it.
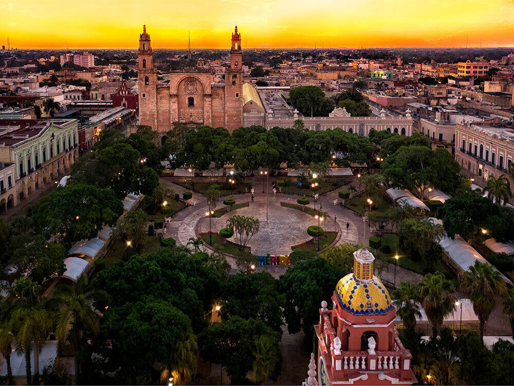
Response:
[[[241,34],[235,26],[230,48],[230,68],[225,71],[225,127],[229,132],[243,126],[243,65]]]

